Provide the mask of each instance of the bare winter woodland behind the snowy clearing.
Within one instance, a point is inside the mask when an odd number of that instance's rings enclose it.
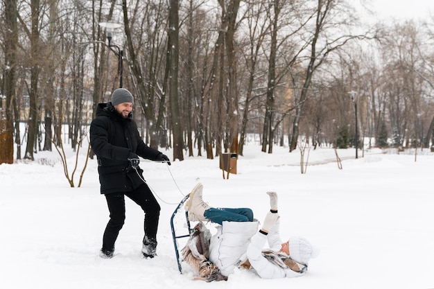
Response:
[[[120,86],[180,161],[243,155],[250,133],[268,153],[430,148],[434,17],[372,21],[356,2],[2,0],[0,164],[78,149]]]

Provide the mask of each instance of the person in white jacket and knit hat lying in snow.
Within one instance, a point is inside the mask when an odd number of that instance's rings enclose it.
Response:
[[[270,211],[258,231],[259,222],[253,218],[251,209],[210,207],[202,200],[202,189],[202,184],[196,185],[186,202],[189,219],[220,224],[217,233],[209,238],[209,248],[201,257],[202,265],[207,264],[203,267],[212,268],[209,271],[213,277],[207,278],[205,273],[202,278],[207,281],[227,280],[225,277],[237,267],[252,270],[266,279],[300,277],[306,274],[310,259],[318,256],[319,251],[309,240],[301,237],[291,237],[282,242],[279,235],[277,193],[267,193],[270,196]],[[206,230],[205,225],[200,225],[200,229]],[[270,249],[263,249],[267,241]],[[208,243],[208,240],[202,242]],[[186,251],[191,253],[191,248]],[[202,270],[202,273],[206,271]]]

